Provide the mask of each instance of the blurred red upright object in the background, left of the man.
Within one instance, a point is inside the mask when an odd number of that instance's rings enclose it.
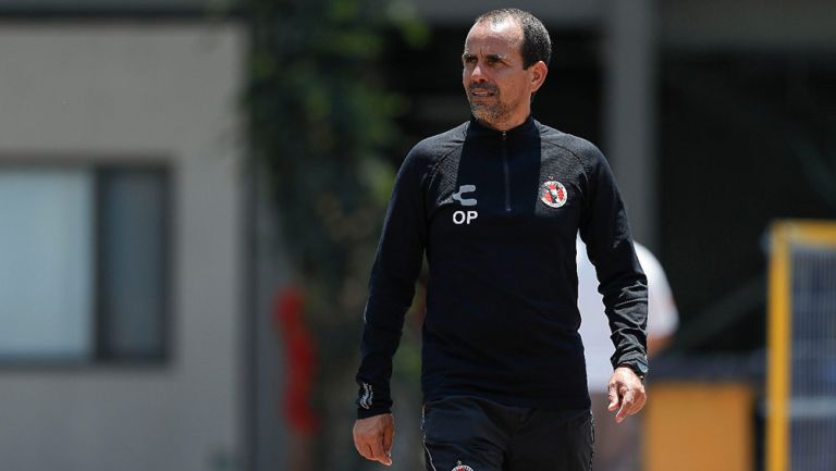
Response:
[[[273,302],[273,324],[279,332],[287,360],[283,409],[288,425],[299,434],[317,430],[317,417],[310,407],[316,370],[316,349],[305,327],[305,299],[302,288],[290,285]]]

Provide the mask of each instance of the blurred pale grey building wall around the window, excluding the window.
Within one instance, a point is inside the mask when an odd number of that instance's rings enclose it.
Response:
[[[172,358],[0,369],[0,469],[218,469],[242,447],[244,34],[229,24],[0,23],[0,162],[173,169]]]

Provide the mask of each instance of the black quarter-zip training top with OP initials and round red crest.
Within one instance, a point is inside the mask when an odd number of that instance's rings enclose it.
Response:
[[[425,250],[425,400],[589,407],[578,231],[604,296],[613,364],[647,361],[647,280],[612,172],[592,144],[529,117],[507,132],[471,119],[415,146],[397,174],[369,283],[358,416],[392,406],[392,357]]]

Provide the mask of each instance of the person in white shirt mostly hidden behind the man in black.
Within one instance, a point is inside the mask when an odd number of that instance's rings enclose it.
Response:
[[[669,344],[679,324],[679,312],[674,302],[671,285],[662,264],[653,253],[639,243],[634,244],[639,262],[648,277],[648,354],[659,355]],[[578,252],[578,310],[583,319],[580,336],[587,357],[587,381],[592,399],[592,417],[606,416],[606,381],[612,373],[610,356],[613,344],[604,312],[601,294],[598,293],[595,268],[587,257],[587,247],[580,237]],[[595,422],[595,453],[592,469],[595,471],[632,471],[639,466],[639,422],[636,420],[615,425],[611,421]]]

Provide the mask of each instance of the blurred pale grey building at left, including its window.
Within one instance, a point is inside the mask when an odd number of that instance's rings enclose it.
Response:
[[[0,468],[232,469],[242,26],[193,1],[0,13]]]

